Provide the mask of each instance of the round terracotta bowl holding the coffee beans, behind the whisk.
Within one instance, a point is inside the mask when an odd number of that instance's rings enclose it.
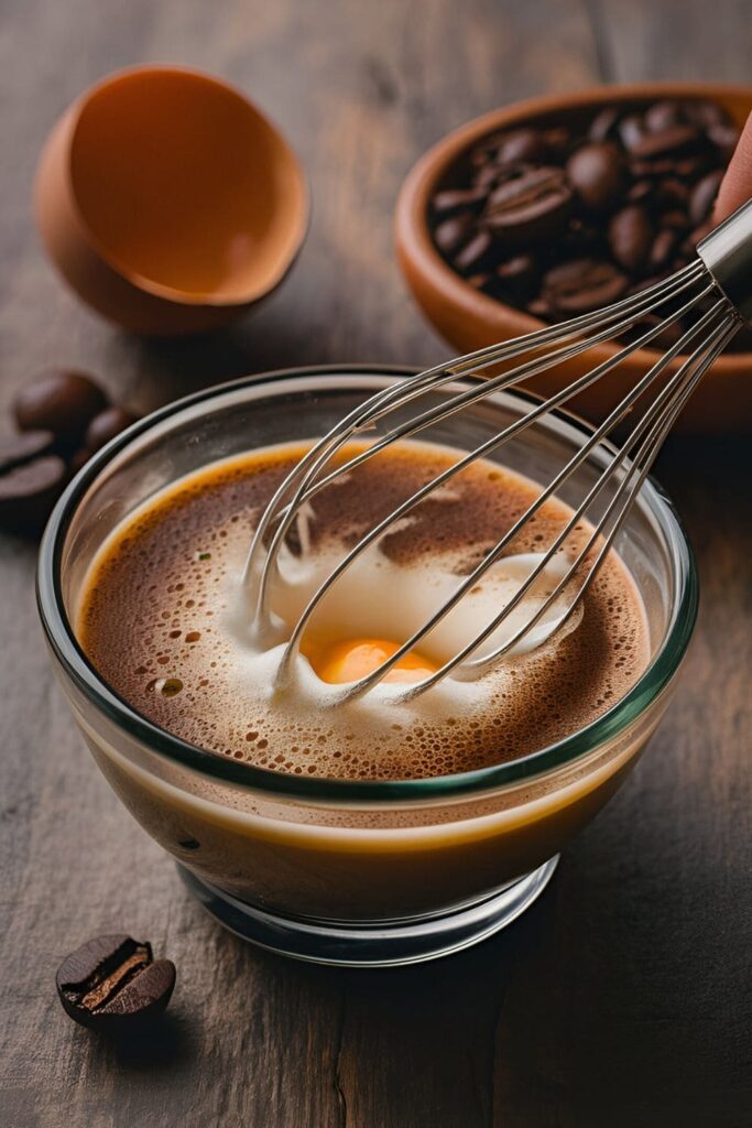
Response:
[[[444,262],[428,230],[428,202],[451,166],[468,148],[498,130],[546,121],[576,121],[593,116],[605,105],[648,104],[658,98],[710,98],[740,126],[752,111],[752,86],[692,82],[646,82],[637,86],[596,87],[573,95],[520,102],[484,114],[435,144],[409,173],[397,203],[396,236],[399,264],[428,320],[458,353],[472,352],[531,333],[543,323],[523,310],[475,290]],[[558,390],[581,376],[584,368],[612,356],[613,345],[595,345],[586,356],[541,373],[532,387],[543,394]],[[609,380],[601,380],[572,400],[574,409],[601,418],[644,374],[657,353],[632,353]],[[675,364],[672,370],[675,370]],[[752,426],[752,353],[726,353],[714,364],[684,408],[679,426],[685,431],[746,430]]]

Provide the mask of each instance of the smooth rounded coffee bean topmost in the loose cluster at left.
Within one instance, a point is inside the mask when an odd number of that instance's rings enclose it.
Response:
[[[21,431],[52,431],[57,442],[73,446],[106,406],[107,396],[89,376],[60,369],[26,385],[14,413]]]

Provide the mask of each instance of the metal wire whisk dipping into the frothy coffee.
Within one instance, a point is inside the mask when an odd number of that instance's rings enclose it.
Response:
[[[585,314],[561,325],[538,329],[506,344],[481,349],[448,364],[421,372],[418,376],[400,381],[396,387],[391,386],[379,391],[334,426],[306,453],[282,483],[256,529],[246,566],[246,583],[255,599],[255,637],[262,642],[271,640],[273,635],[269,589],[274,570],[277,566],[277,554],[297,520],[301,506],[306,505],[319,491],[378,455],[391,443],[417,434],[461,412],[469,405],[478,403],[490,393],[511,388],[546,369],[578,356],[594,344],[618,337],[643,320],[646,315],[655,315],[657,311],[661,314],[656,324],[651,324],[651,327],[642,332],[636,340],[623,344],[612,358],[532,407],[527,415],[517,418],[497,435],[460,458],[379,521],[351,552],[343,556],[308,602],[287,640],[280,666],[280,678],[284,679],[289,672],[290,663],[299,651],[303,633],[324,596],[369,545],[382,537],[390,527],[393,527],[396,521],[405,518],[425,497],[470,462],[498,450],[514,435],[534,424],[537,420],[565,404],[598,380],[608,378],[609,373],[625,358],[644,345],[648,345],[666,327],[680,323],[681,318],[691,310],[699,312],[698,306],[704,310],[701,316],[681,334],[675,344],[672,344],[652,364],[645,376],[592,432],[529,509],[484,556],[483,561],[468,575],[460,579],[453,594],[378,669],[357,681],[340,687],[342,695],[338,699],[351,699],[366,693],[381,681],[400,658],[418,647],[422,640],[503,556],[507,545],[520,534],[525,523],[577,472],[593,448],[632,412],[638,400],[643,404],[647,403],[645,409],[637,413],[637,422],[623,440],[621,448],[612,455],[610,464],[581,503],[573,506],[572,518],[542,554],[540,563],[521,582],[512,599],[501,608],[479,635],[444,662],[435,673],[426,677],[423,681],[402,687],[399,697],[408,699],[425,693],[449,673],[463,680],[477,678],[520,644],[556,601],[563,594],[567,596],[569,590],[574,588],[576,590],[566,602],[564,613],[556,619],[556,629],[560,629],[569,619],[613,545],[674,420],[702,379],[704,373],[725,349],[743,321],[752,319],[752,201],[707,236],[698,246],[696,261],[671,277],[595,312]],[[667,379],[664,376],[662,381],[662,373],[676,356],[682,356],[676,371]],[[512,359],[519,359],[519,363],[511,370],[496,376],[486,374],[487,369]],[[345,443],[359,434],[372,430],[380,420],[392,412],[402,409],[413,400],[418,400],[427,393],[451,384],[458,377],[480,377],[480,379],[474,379],[469,388],[459,390],[445,403],[417,412],[413,418],[399,423],[386,437],[375,439],[357,455],[327,470],[327,465],[333,456]],[[657,390],[654,387],[656,385]],[[651,389],[654,389],[653,399],[648,402],[644,397],[651,393]],[[511,638],[505,640],[490,653],[474,656],[478,647],[499,628],[530,592],[555,554],[570,537],[575,526],[583,519],[587,519],[587,512],[593,502],[616,476],[619,478],[613,495],[600,518],[590,522],[589,536],[584,546],[574,556],[564,575],[558,579],[550,594],[539,607],[533,609]],[[598,549],[594,558],[591,559],[595,546]],[[582,572],[584,575],[578,582],[575,582]]]

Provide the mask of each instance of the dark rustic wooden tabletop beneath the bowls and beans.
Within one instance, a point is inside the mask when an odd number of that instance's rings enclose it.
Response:
[[[5,0],[0,408],[50,362],[145,409],[249,370],[431,362],[390,217],[413,160],[483,111],[598,80],[749,80],[747,0]],[[212,340],[117,333],[53,275],[29,219],[46,131],[106,71],[185,62],[246,89],[312,179],[310,238]],[[702,611],[649,754],[506,934],[392,972],[299,966],[205,918],[99,776],[53,682],[35,549],[0,537],[0,1122],[8,1128],[741,1126],[750,1090],[749,440],[676,439],[658,476]],[[158,1039],[114,1049],[54,998],[99,931],[178,966]]]

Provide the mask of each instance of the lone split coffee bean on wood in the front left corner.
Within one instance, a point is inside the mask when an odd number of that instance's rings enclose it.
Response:
[[[175,987],[175,964],[154,960],[150,944],[130,936],[99,936],[63,960],[55,982],[71,1019],[116,1033],[161,1014]]]

